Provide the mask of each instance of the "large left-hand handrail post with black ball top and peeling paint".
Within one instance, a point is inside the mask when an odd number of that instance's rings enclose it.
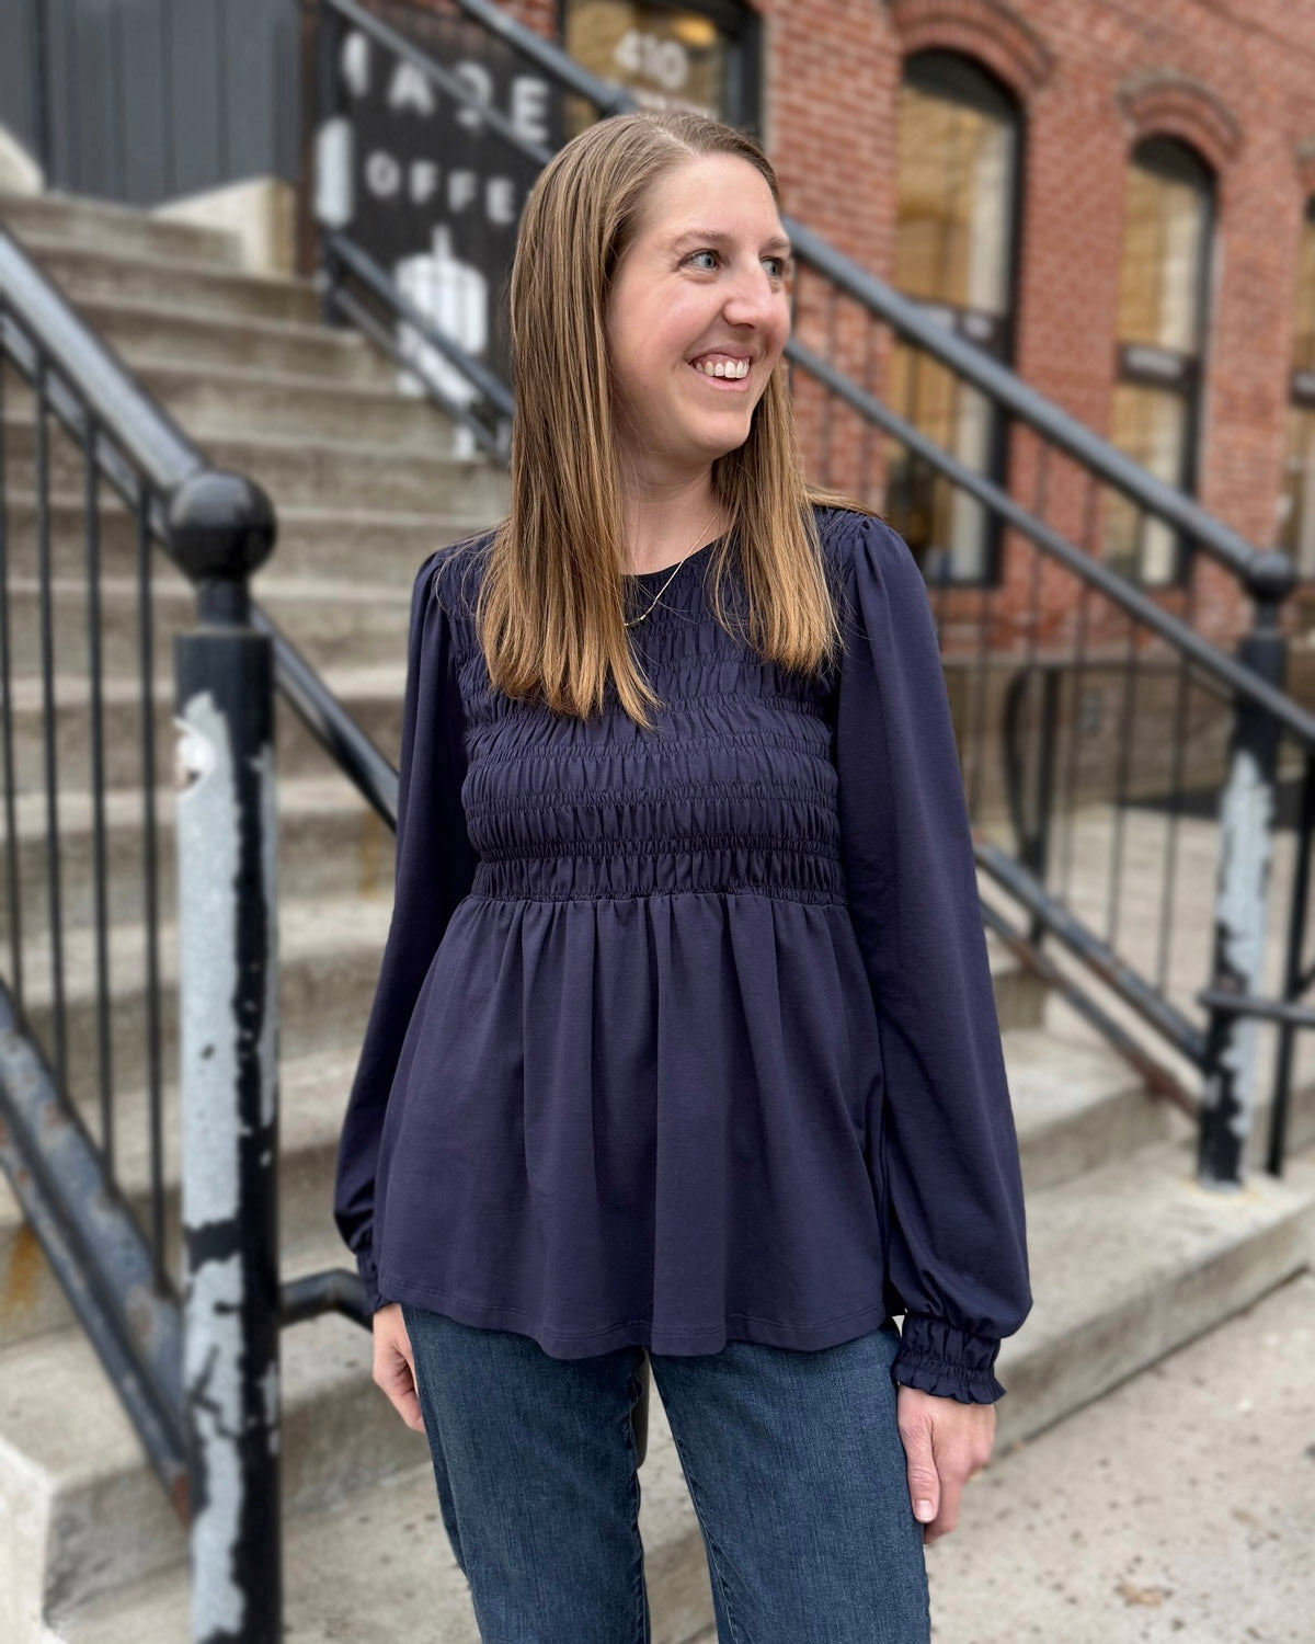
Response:
[[[265,493],[205,470],[169,498],[197,623],[174,640],[182,1376],[191,1639],[278,1644],[278,940],[273,648],[250,621]]]

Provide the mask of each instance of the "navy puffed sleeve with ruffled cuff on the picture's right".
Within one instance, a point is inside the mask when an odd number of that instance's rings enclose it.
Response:
[[[896,1381],[965,1404],[1004,1388],[1032,1305],[1022,1172],[968,807],[927,587],[881,520],[837,513],[848,595],[835,764],[850,912],[884,1078],[868,1167],[904,1302]]]

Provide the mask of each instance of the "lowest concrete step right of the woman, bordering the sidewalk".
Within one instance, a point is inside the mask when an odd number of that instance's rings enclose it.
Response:
[[[996,1447],[1031,1438],[1315,1263],[1315,1161],[1198,1185],[1190,1138],[1027,1195],[1032,1312],[999,1351]]]

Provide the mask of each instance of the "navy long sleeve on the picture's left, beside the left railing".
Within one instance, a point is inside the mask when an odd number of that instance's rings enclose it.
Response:
[[[347,1098],[334,1184],[334,1221],[357,1258],[371,1312],[385,1305],[373,1253],[375,1167],[393,1075],[431,960],[478,863],[460,799],[465,718],[454,636],[434,589],[444,552],[441,549],[421,566],[411,595],[393,921]]]

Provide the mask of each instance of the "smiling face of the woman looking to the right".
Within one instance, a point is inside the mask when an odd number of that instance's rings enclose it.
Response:
[[[616,434],[643,477],[679,480],[745,444],[789,337],[789,273],[746,159],[690,159],[654,186],[607,312]],[[730,375],[708,375],[717,362]]]

